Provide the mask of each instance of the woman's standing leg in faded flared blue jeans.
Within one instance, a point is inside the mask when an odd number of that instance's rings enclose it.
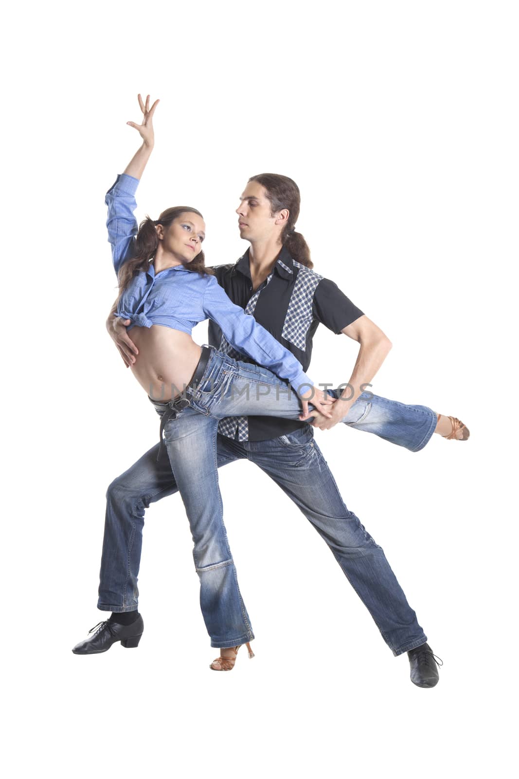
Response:
[[[211,646],[236,647],[254,638],[238,587],[219,491],[218,421],[191,407],[177,412],[164,428],[171,469],[188,514],[200,579],[200,605]]]

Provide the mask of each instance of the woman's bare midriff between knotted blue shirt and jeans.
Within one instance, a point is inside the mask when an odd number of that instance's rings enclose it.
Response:
[[[135,379],[153,400],[171,400],[188,386],[202,348],[189,333],[163,325],[132,327],[129,337],[139,349],[132,365]]]

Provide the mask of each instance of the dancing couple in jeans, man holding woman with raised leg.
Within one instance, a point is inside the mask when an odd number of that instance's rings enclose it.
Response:
[[[417,686],[438,681],[437,661],[383,549],[342,500],[313,429],[338,422],[418,452],[434,433],[468,439],[457,418],[366,390],[391,348],[370,319],[316,273],[295,231],[300,192],[279,174],[247,182],[237,208],[249,249],[237,263],[205,266],[202,214],[176,206],[138,227],[135,192],[154,145],[153,115],[139,95],[142,138],[107,192],[108,236],[119,294],[107,328],[160,417],[160,441],[107,491],[97,608],[112,612],[75,654],[98,654],[121,641],[137,647],[144,629],[137,580],[144,514],[180,492],[194,541],[210,668],[233,668],[254,639],[223,523],[218,468],[248,459],[300,508],[328,544],[395,656],[407,653]],[[191,338],[209,319],[209,346]],[[306,371],[323,323],[359,343],[347,384],[321,390]],[[324,385],[321,385],[324,386]],[[246,506],[244,506],[246,510]],[[91,635],[90,635],[91,634]]]

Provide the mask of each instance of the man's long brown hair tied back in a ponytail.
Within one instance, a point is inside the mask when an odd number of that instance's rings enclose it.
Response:
[[[281,211],[283,208],[289,210],[289,218],[281,234],[282,245],[286,246],[290,256],[297,263],[301,263],[307,268],[313,268],[314,263],[310,259],[307,241],[304,240],[301,233],[296,233],[294,230],[301,205],[301,195],[296,182],[288,176],[279,175],[279,173],[259,173],[257,176],[251,176],[249,181],[258,182],[265,187],[265,195],[270,200],[272,213]]]

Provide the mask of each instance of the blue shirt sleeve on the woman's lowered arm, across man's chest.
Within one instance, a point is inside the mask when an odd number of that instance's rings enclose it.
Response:
[[[209,277],[203,308],[205,314],[222,330],[235,349],[271,370],[280,379],[288,379],[295,390],[304,393],[314,382],[303,372],[303,366],[279,341],[259,325],[254,316],[235,305],[220,287],[216,277]],[[303,386],[304,385],[304,386]]]

